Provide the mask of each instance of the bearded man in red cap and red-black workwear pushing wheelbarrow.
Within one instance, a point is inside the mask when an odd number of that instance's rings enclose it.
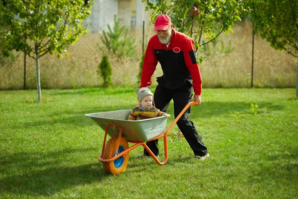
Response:
[[[202,79],[196,59],[195,45],[189,36],[173,29],[169,16],[161,14],[154,21],[153,35],[146,50],[140,88],[151,84],[152,75],[159,62],[163,71],[161,77],[157,77],[157,87],[154,92],[155,107],[165,112],[170,101],[174,101],[175,117],[190,101],[201,104]],[[194,97],[192,99],[194,90]],[[190,107],[177,125],[183,133],[186,141],[192,148],[195,158],[204,161],[210,155],[192,121],[188,120]],[[158,139],[146,143],[155,156],[159,155],[157,147]],[[144,149],[140,158],[149,156]]]

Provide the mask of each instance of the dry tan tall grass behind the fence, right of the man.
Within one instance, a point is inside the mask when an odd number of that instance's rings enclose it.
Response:
[[[224,46],[230,41],[233,50],[230,53],[217,51],[204,59],[200,66],[204,87],[251,86],[252,37],[252,24],[248,21],[234,26],[233,33],[220,36]],[[275,50],[256,35],[253,61],[254,87],[295,87],[298,60],[284,51]]]

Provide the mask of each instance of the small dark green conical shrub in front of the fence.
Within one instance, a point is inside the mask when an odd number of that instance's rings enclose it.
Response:
[[[112,67],[108,60],[108,56],[104,55],[102,57],[101,62],[98,65],[98,71],[100,76],[103,78],[103,87],[106,88],[112,85],[111,75],[112,75]]]

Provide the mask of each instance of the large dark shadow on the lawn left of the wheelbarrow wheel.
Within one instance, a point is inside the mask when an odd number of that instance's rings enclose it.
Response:
[[[99,182],[108,175],[101,163],[70,165],[64,158],[73,157],[95,148],[65,149],[45,153],[15,153],[0,157],[4,171],[1,171],[0,195],[50,196],[76,185]],[[67,154],[67,155],[66,155]],[[72,160],[69,160],[71,165]],[[60,163],[63,164],[60,164]],[[78,163],[77,163],[78,164]]]

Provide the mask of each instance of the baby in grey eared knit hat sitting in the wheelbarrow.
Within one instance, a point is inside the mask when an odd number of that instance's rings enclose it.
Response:
[[[130,112],[128,120],[142,120],[153,117],[170,116],[169,114],[160,111],[152,105],[153,94],[150,91],[151,87],[147,86],[141,89],[136,89],[140,105],[133,108]]]

